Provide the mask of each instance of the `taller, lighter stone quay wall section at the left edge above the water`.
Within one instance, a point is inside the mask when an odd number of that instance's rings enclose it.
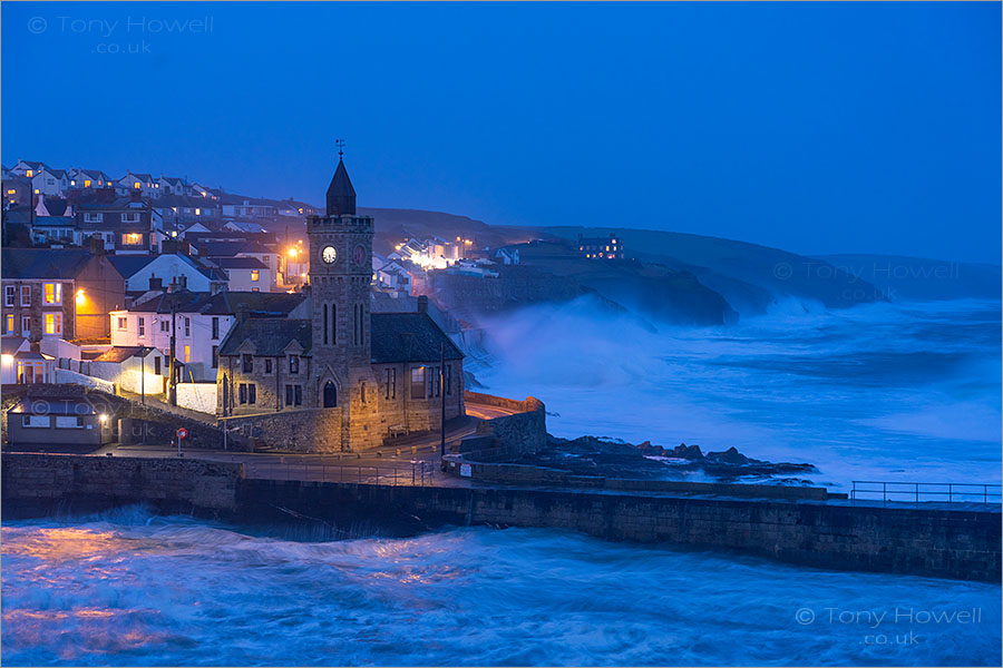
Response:
[[[241,464],[194,459],[12,454],[2,459],[3,510],[18,514],[152,503],[168,512],[233,512]]]

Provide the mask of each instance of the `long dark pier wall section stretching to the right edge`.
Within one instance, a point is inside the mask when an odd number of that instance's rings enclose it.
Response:
[[[408,534],[442,525],[544,527],[630,540],[736,550],[834,570],[999,582],[994,511],[882,508],[846,501],[686,498],[519,488],[421,488],[244,480],[242,514],[294,511],[337,530]],[[276,510],[276,507],[285,509]]]

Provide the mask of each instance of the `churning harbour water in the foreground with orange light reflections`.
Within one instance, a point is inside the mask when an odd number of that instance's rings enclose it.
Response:
[[[990,584],[548,530],[310,543],[127,509],[2,532],[8,666],[1001,662]]]

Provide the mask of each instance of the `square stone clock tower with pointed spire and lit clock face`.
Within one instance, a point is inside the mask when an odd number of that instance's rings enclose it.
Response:
[[[366,433],[369,430],[361,414],[366,411],[367,385],[370,401],[376,399],[370,341],[372,235],[372,216],[356,213],[356,190],[339,151],[338,168],[328,187],[327,210],[323,216],[306,218],[306,236],[313,303],[314,405],[341,409],[345,450],[364,446],[366,441],[376,438]]]

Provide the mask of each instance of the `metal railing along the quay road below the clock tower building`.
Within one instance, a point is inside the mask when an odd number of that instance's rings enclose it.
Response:
[[[366,466],[327,462],[245,462],[244,475],[267,480],[353,482],[393,487],[434,484],[436,464],[412,462],[395,466]]]

